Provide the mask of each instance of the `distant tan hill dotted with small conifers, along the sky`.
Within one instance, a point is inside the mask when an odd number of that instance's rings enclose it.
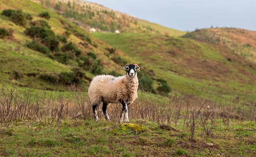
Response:
[[[33,0],[34,2],[43,4],[45,7],[57,11],[60,15],[69,18],[71,21],[84,27],[96,28],[97,31],[114,32],[150,32],[160,33],[170,36],[184,35],[184,31],[179,31],[171,28],[154,24],[134,16],[121,13],[102,5],[83,0]]]

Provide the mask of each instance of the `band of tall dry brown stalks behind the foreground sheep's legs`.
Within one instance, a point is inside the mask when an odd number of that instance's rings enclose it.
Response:
[[[5,88],[8,91],[7,93],[0,91],[1,125],[17,124],[19,121],[41,122],[41,120],[47,120],[49,126],[54,125],[56,127],[61,123],[63,117],[93,118],[92,107],[88,105],[87,97],[82,93],[78,93],[75,90],[75,86],[71,87],[70,100],[56,96],[55,88],[52,98],[46,98],[45,95],[42,98],[35,98],[32,97],[31,92],[23,95],[17,88],[15,90],[9,90],[6,86]],[[199,123],[205,128],[207,120],[210,120],[211,125],[213,125],[216,119],[222,119],[227,127],[230,119],[256,122],[256,103],[254,105],[249,103],[245,106],[245,100],[242,110],[237,111],[234,106],[234,98],[233,100],[230,98],[229,105],[218,105],[210,100],[203,100],[203,103],[199,103],[201,100],[196,100],[195,97],[193,100],[190,98],[190,100],[184,101],[182,96],[173,93],[169,103],[158,104],[157,98],[153,98],[151,95],[150,97],[144,96],[143,92],[140,94],[142,95],[141,100],[136,100],[135,103],[129,106],[129,117],[132,120],[149,120],[155,121],[159,125],[174,124],[176,127],[179,119],[183,118],[183,127],[190,126],[192,134]],[[109,104],[110,119],[115,121],[116,124],[120,124],[121,109],[122,105],[120,104]],[[99,106],[98,117],[104,118],[101,105]],[[53,124],[53,121],[55,124]],[[209,129],[207,131],[207,128],[205,128],[205,132],[209,132]]]

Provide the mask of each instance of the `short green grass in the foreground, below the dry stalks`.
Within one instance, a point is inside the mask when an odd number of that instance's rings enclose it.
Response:
[[[196,128],[161,129],[156,122],[132,120],[144,130],[122,130],[112,122],[64,118],[54,128],[47,121],[20,122],[1,127],[1,156],[255,156],[256,124],[232,120],[227,129],[217,120],[212,136]],[[182,123],[182,119],[179,121]],[[168,127],[167,127],[168,128]],[[212,143],[213,146],[206,145]]]

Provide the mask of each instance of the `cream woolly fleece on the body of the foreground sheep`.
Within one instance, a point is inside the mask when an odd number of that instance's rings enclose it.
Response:
[[[88,96],[91,105],[106,103],[119,103],[123,100],[127,103],[133,103],[138,98],[138,77],[125,76],[115,77],[112,75],[98,75],[90,83]]]

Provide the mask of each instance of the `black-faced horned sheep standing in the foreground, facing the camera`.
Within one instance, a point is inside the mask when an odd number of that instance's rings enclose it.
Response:
[[[126,71],[124,76],[98,75],[92,79],[88,89],[88,97],[95,121],[98,121],[98,105],[103,102],[102,111],[107,121],[110,120],[107,114],[107,105],[109,103],[121,103],[123,109],[120,122],[123,123],[124,112],[125,122],[129,122],[128,105],[138,98],[139,80],[136,70],[139,72],[140,67],[138,64],[126,64],[123,69]]]

